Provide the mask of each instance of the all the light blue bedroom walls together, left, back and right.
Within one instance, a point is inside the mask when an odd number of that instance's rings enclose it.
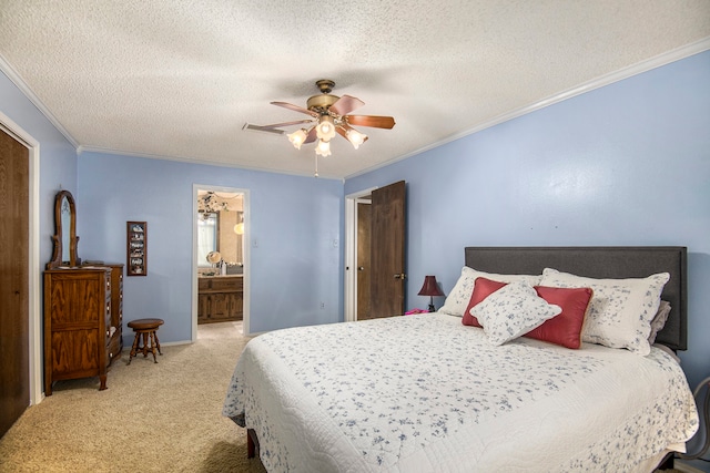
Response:
[[[343,245],[333,246],[342,241],[343,195],[405,179],[409,307],[426,305],[416,296],[424,275],[450,290],[467,245],[688,246],[690,349],[682,359],[694,385],[710,374],[709,83],[704,52],[347,179],[344,188],[108,154],[87,153],[78,164],[71,144],[1,73],[0,111],[40,142],[42,263],[51,256],[60,185],[77,196],[83,258],[124,261],[125,222],[149,222],[149,276],[126,278],[125,316],[162,315],[165,341],[190,338],[193,183],[251,192],[258,332],[343,319]]]

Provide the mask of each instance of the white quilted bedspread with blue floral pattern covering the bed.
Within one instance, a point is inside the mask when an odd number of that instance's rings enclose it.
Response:
[[[660,349],[493,347],[443,313],[256,337],[223,413],[270,472],[633,471],[698,429]]]

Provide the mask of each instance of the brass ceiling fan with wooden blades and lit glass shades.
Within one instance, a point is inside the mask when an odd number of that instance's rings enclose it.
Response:
[[[317,81],[315,85],[321,93],[310,97],[305,109],[286,102],[271,102],[273,105],[311,115],[311,119],[263,126],[246,124],[244,128],[283,134],[284,131],[278,130],[283,126],[308,124],[307,127],[302,127],[288,134],[288,141],[297,150],[301,150],[302,144],[313,143],[318,140],[315,154],[329,156],[331,138],[333,138],[336,133],[349,141],[355,150],[367,141],[367,135],[353,128],[352,125],[387,130],[390,130],[395,125],[395,119],[392,116],[349,115],[352,111],[365,105],[365,102],[352,95],[332,95],[331,92],[335,86],[335,82],[323,79]]]

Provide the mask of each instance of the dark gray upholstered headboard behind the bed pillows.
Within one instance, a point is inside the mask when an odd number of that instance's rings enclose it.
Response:
[[[661,299],[671,311],[657,341],[673,350],[688,349],[687,248],[627,247],[466,247],[466,266],[487,273],[539,275],[555,268],[591,278],[640,278],[669,273]]]

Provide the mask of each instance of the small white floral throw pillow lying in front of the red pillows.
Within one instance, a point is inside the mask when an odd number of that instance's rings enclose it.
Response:
[[[558,316],[562,308],[548,304],[525,281],[505,286],[470,309],[495,346],[505,343]]]

